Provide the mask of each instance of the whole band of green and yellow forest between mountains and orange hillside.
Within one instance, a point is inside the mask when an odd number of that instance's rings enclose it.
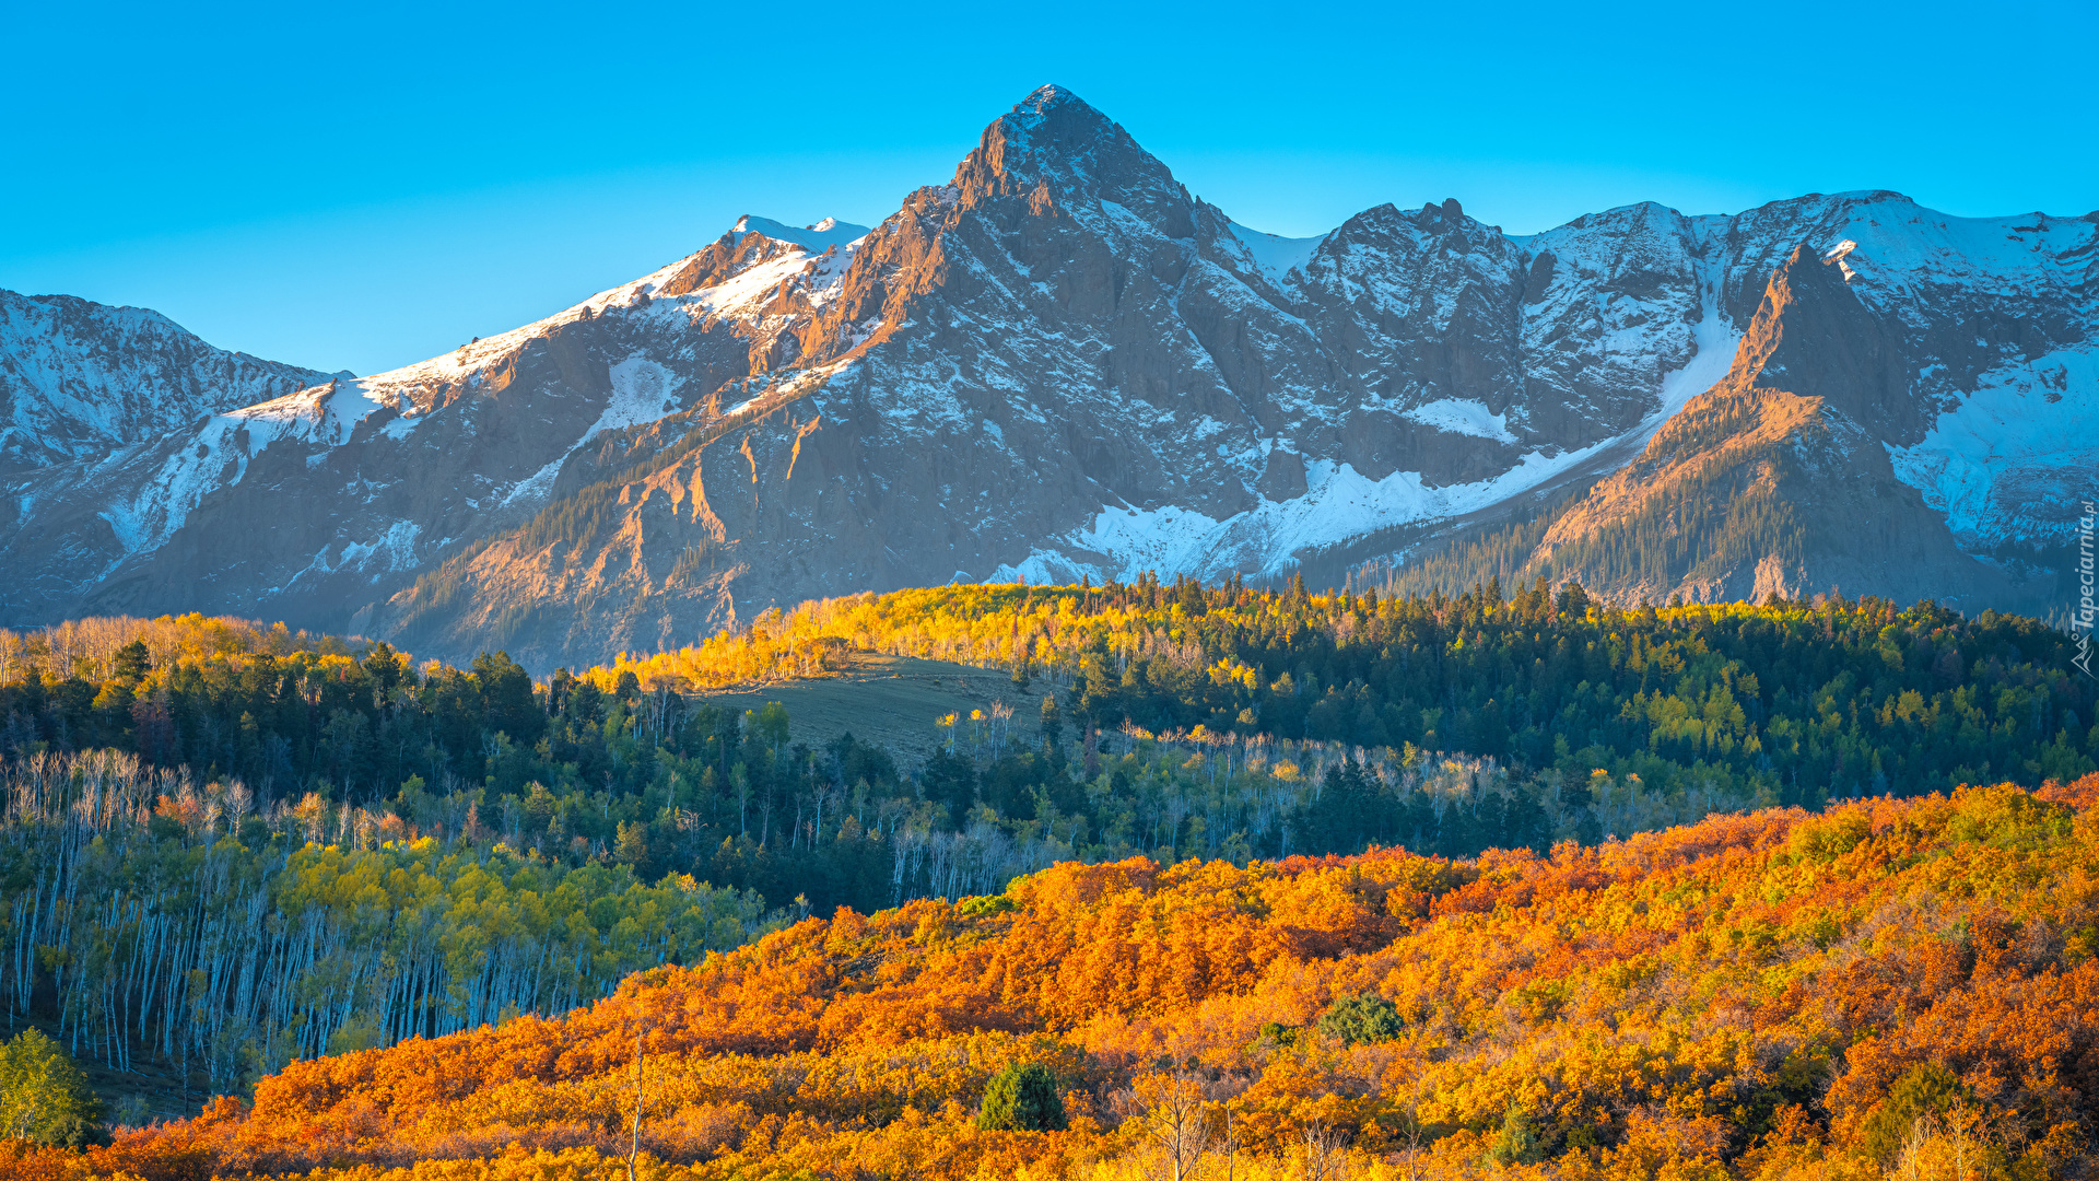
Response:
[[[884,750],[709,704],[850,651],[1008,670],[1012,706]],[[202,616],[0,633],[0,990],[174,1078],[136,1122],[1060,864],[1459,864],[2072,782],[2099,727],[2065,654],[1933,603],[1150,578],[810,603],[537,681]]]

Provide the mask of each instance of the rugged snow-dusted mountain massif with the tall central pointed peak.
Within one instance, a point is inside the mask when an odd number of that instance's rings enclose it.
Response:
[[[1845,193],[1280,240],[1045,86],[871,231],[743,219],[92,477],[46,446],[0,618],[260,614],[544,668],[817,595],[1341,569],[1591,483],[1513,565],[2019,605],[2099,458],[2070,429],[2099,420],[2095,229]]]

